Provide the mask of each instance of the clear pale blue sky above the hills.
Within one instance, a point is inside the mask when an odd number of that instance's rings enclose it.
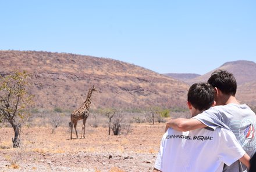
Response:
[[[0,50],[113,58],[160,74],[256,61],[256,1],[0,1]]]

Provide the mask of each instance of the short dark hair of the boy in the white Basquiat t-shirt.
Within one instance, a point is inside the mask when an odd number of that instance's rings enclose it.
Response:
[[[200,111],[209,109],[214,103],[214,87],[209,83],[194,83],[187,93],[187,101]]]

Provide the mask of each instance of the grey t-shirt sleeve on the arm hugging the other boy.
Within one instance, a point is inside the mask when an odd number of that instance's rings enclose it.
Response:
[[[227,130],[230,130],[229,127],[222,122],[222,118],[218,110],[214,108],[209,108],[201,114],[194,116],[193,118],[199,120],[201,123],[213,130],[218,127],[223,127]]]

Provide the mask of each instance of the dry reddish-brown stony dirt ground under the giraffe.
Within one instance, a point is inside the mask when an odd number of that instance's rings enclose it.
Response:
[[[69,127],[58,127],[54,134],[51,127],[23,127],[22,145],[13,149],[13,129],[3,127],[0,172],[152,171],[164,129],[165,123],[131,124],[129,134],[109,136],[107,127],[88,126],[86,138],[70,140]]]

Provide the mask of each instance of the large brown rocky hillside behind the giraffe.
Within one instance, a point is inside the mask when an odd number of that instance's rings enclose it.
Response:
[[[92,108],[186,107],[189,86],[137,65],[110,58],[67,53],[0,51],[2,75],[26,70],[31,75],[35,108],[74,109],[90,86]]]

